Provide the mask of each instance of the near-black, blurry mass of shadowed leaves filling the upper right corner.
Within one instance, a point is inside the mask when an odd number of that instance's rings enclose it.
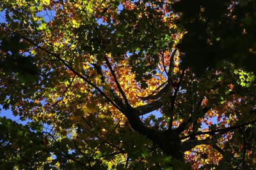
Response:
[[[179,1],[179,23],[188,32],[179,48],[184,64],[199,74],[229,61],[255,71],[255,3],[253,1]]]

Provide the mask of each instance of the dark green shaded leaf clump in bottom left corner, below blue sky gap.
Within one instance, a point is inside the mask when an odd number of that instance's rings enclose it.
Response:
[[[6,117],[0,118],[1,169],[36,169],[47,167],[51,155],[40,125],[22,126]],[[31,129],[32,128],[32,129]]]

